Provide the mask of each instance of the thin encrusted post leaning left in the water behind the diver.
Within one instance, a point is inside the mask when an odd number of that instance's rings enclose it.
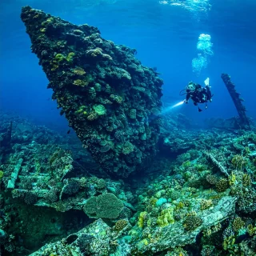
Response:
[[[230,96],[234,102],[234,106],[238,111],[238,115],[240,118],[240,120],[238,121],[238,125],[242,129],[250,130],[250,121],[246,116],[246,107],[242,104],[243,99],[240,97],[241,94],[239,94],[235,90],[235,86],[234,83],[231,82],[230,75],[222,74],[222,80],[225,83],[226,89],[229,91]]]

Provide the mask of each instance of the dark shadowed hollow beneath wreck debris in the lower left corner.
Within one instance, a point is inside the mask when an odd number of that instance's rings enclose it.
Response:
[[[2,212],[4,255],[27,255],[47,242],[55,242],[81,230],[90,219],[78,210],[65,213],[50,208],[27,206],[6,194]],[[7,237],[6,234],[11,234]],[[14,244],[17,250],[14,248]]]

